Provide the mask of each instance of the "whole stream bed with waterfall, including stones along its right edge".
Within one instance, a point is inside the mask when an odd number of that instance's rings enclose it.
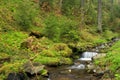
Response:
[[[103,77],[105,75],[109,76],[110,80],[113,80],[107,66],[106,69],[102,70],[93,61],[106,57],[105,53],[99,52],[108,49],[119,40],[119,38],[112,38],[111,41],[96,46],[82,53],[82,55],[80,54],[81,57],[75,60],[71,66],[49,67],[50,80],[104,80]]]

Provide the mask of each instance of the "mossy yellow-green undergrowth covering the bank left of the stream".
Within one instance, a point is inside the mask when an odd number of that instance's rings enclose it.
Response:
[[[22,48],[22,43],[29,38],[28,33],[22,31],[0,32],[0,59],[10,58],[10,61],[0,62],[1,79],[6,78],[10,72],[22,71],[23,64],[31,59],[45,65],[72,64],[72,59],[69,58],[72,50],[67,44],[53,43],[46,37],[32,37],[31,45]]]

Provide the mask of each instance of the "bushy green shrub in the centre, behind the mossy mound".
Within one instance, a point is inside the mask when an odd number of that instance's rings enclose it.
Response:
[[[43,33],[55,42],[79,41],[78,23],[66,17],[50,15],[45,19]]]

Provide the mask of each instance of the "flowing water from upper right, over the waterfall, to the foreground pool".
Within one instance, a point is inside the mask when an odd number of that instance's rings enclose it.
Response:
[[[86,66],[92,62],[92,58],[97,56],[101,49],[111,47],[118,40],[120,38],[113,38],[108,43],[103,43],[89,51],[83,52],[81,57],[75,60],[71,66],[48,68],[50,72],[48,80],[99,80],[99,77],[93,76],[93,73],[86,71]]]

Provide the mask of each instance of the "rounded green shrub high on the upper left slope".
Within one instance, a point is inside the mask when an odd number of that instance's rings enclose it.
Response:
[[[27,30],[33,25],[37,13],[37,9],[31,1],[21,1],[16,10],[15,20],[22,30]]]

